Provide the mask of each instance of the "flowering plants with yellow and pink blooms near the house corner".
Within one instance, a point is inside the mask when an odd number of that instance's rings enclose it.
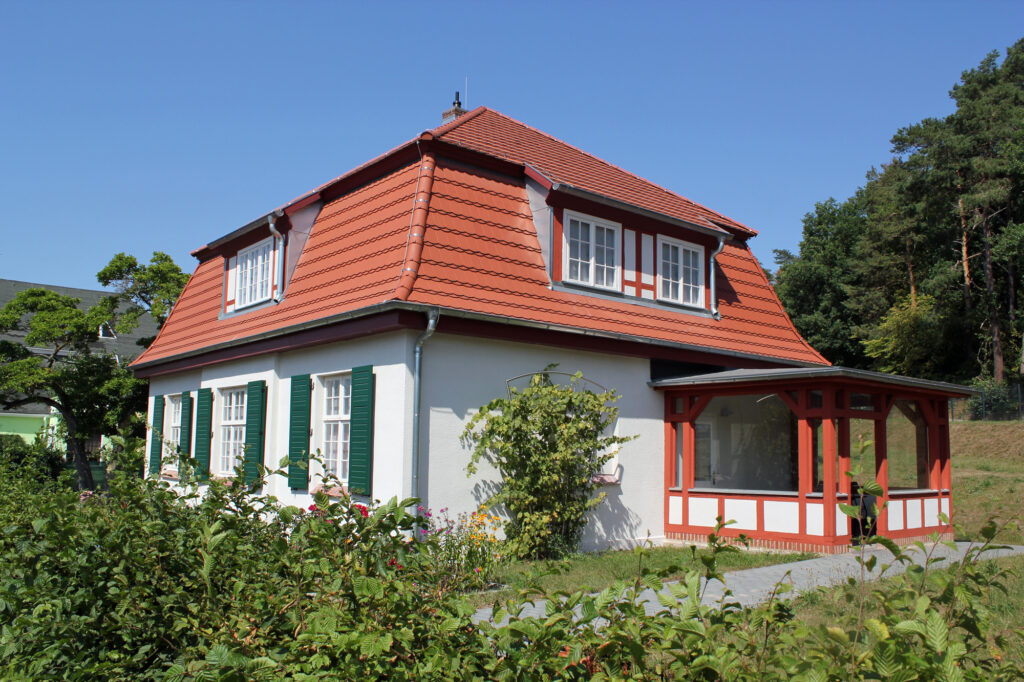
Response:
[[[482,508],[456,518],[449,516],[446,507],[437,513],[416,509],[425,519],[419,539],[434,549],[433,583],[440,589],[486,587],[505,560],[498,538],[501,519]]]

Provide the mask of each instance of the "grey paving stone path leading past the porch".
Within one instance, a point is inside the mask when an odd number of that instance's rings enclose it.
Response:
[[[971,543],[956,543],[956,550],[952,550],[945,545],[926,546],[932,550],[932,557],[941,557],[943,560],[933,564],[936,568],[941,568],[959,561],[971,547]],[[907,553],[913,557],[918,564],[925,562],[925,554],[916,548],[907,549]],[[878,556],[878,564],[874,570],[867,573],[867,580],[878,580],[883,577],[898,576],[903,572],[904,564],[893,564],[883,574],[881,566],[891,563],[892,555],[882,547],[874,547],[865,551],[864,558],[870,555]],[[990,550],[985,552],[981,558],[995,559],[1001,556],[1013,554],[1024,554],[1024,545],[1015,545],[1005,550]],[[745,570],[731,570],[725,573],[725,580],[729,589],[732,590],[732,600],[739,602],[743,606],[754,606],[766,601],[771,595],[775,585],[784,581],[793,585],[793,590],[786,593],[786,597],[793,597],[804,592],[811,592],[822,586],[839,585],[847,578],[857,578],[860,576],[861,567],[857,563],[859,551],[851,550],[844,554],[831,554],[820,556],[815,559],[805,559],[792,563],[779,563],[773,566],[761,566],[760,568],[748,568]],[[786,574],[788,573],[788,574]],[[703,586],[701,586],[703,587]],[[713,581],[703,594],[705,604],[716,604],[721,599],[725,586],[718,581]],[[656,613],[664,607],[657,601],[653,590],[644,590],[640,593],[640,599],[644,604],[644,610],[648,614]],[[532,606],[527,605],[523,610],[523,616],[545,616],[546,604],[538,601]],[[473,615],[476,622],[490,620],[490,608],[480,608]]]

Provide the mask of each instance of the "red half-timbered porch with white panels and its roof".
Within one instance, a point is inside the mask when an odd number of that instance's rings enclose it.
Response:
[[[882,486],[877,531],[898,543],[952,535],[949,397],[963,386],[838,367],[730,370],[651,383],[665,392],[669,539],[843,551],[840,504]],[[865,498],[864,505],[871,507]]]

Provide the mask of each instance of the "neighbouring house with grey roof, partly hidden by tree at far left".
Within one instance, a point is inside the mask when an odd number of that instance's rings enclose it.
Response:
[[[76,289],[73,287],[55,287],[47,284],[35,284],[32,282],[18,282],[16,280],[0,280],[0,308],[14,298],[18,292],[27,289],[48,289],[61,296],[71,296],[80,301],[80,306],[89,308],[98,303],[102,298],[111,296],[111,292],[95,289]],[[25,339],[24,330],[13,330],[0,333],[0,341],[12,341],[20,344]],[[123,358],[125,361],[131,360],[138,355],[142,348],[138,345],[138,340],[153,337],[157,334],[157,325],[150,315],[142,315],[139,326],[128,334],[116,334],[110,325],[102,325],[97,330],[97,339],[91,344],[94,352],[109,352]],[[39,353],[48,354],[48,350],[35,349]],[[22,436],[27,441],[35,439],[41,431],[49,431],[58,421],[57,415],[48,406],[41,402],[18,406],[4,409],[0,407],[0,433],[13,433]],[[97,434],[86,441],[88,452],[99,450],[101,438]]]

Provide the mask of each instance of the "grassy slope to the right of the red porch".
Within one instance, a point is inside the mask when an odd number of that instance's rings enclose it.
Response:
[[[989,517],[1021,521],[1024,498],[1024,424],[954,422],[949,426],[953,467],[953,523],[969,539]],[[1020,528],[1000,537],[1024,544]]]

